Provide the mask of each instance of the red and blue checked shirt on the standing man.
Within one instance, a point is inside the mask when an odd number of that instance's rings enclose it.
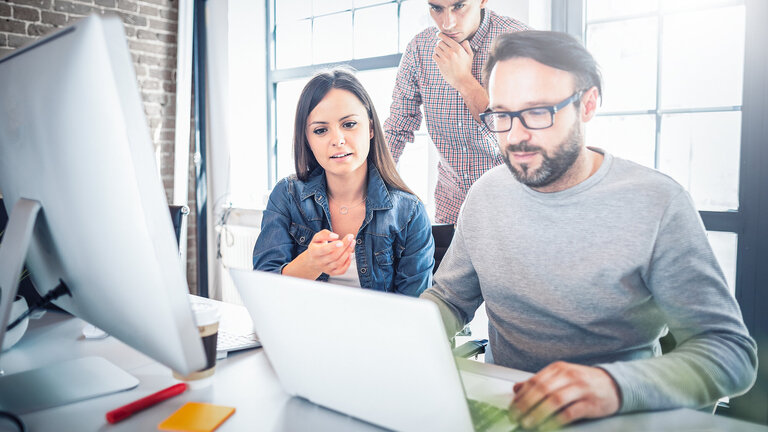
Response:
[[[527,30],[520,21],[484,9],[483,18],[469,41],[475,56],[472,75],[481,73],[493,39],[513,31]],[[455,224],[469,187],[483,173],[502,163],[496,137],[472,118],[461,94],[451,87],[432,60],[437,27],[417,34],[408,44],[397,71],[390,115],[384,133],[395,162],[406,142],[421,126],[419,105],[424,104],[427,130],[440,153],[435,188],[435,222]]]

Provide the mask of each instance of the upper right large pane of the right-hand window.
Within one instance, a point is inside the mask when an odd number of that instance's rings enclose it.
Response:
[[[664,108],[741,105],[743,6],[670,14],[663,30]]]

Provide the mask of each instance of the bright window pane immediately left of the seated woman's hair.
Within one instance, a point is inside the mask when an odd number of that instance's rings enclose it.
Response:
[[[308,78],[283,81],[277,84],[275,90],[278,180],[296,171],[293,166],[293,122],[299,95],[308,81]]]

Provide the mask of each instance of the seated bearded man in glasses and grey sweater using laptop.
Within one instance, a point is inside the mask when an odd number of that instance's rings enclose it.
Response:
[[[451,335],[485,301],[487,361],[536,373],[515,384],[513,419],[546,429],[749,389],[756,345],[688,193],[585,145],[592,56],[563,33],[505,34],[484,77],[506,167],[469,191],[422,297]],[[678,346],[661,355],[667,330]]]

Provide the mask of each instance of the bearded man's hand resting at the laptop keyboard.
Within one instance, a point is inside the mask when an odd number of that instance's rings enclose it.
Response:
[[[603,369],[556,362],[514,386],[509,416],[525,429],[553,430],[619,410],[616,382]]]

